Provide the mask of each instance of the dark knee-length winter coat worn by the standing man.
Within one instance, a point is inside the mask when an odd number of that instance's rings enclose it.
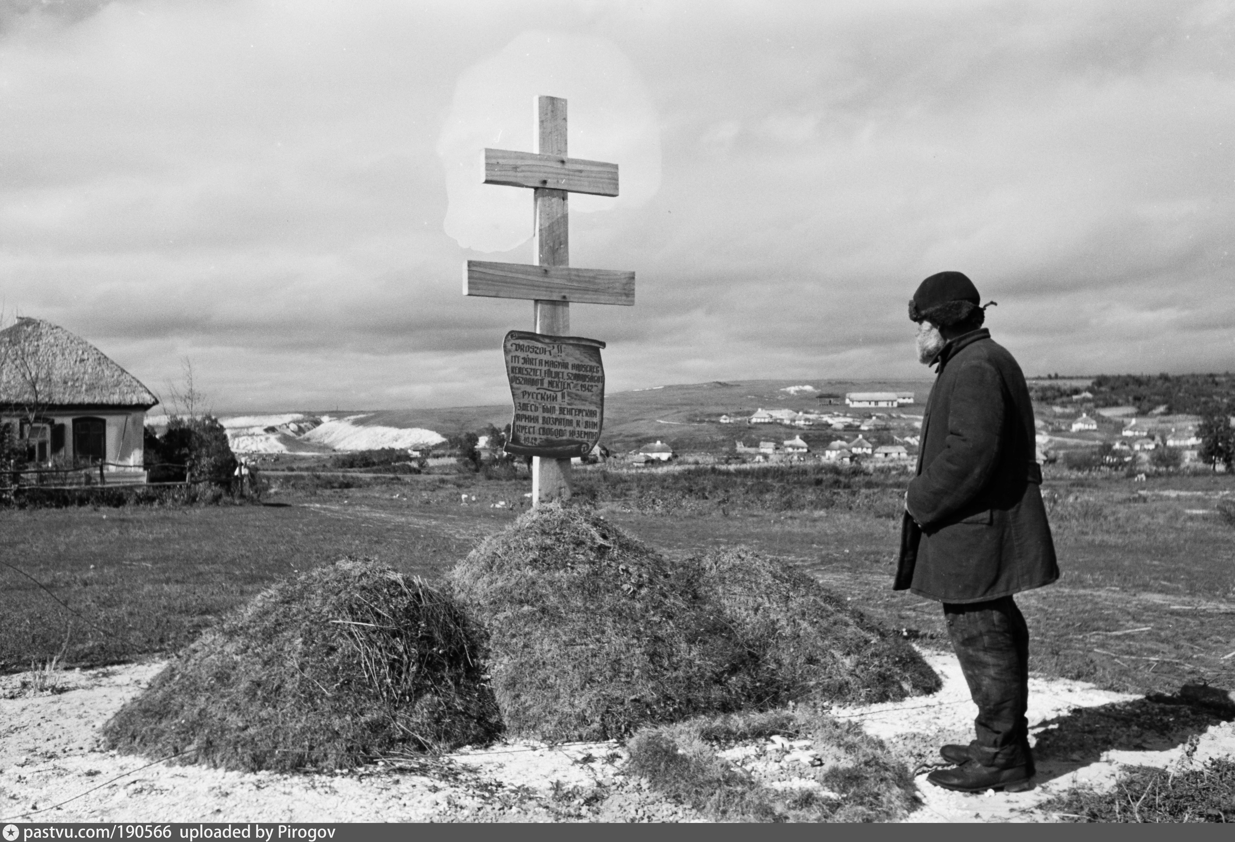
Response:
[[[1016,361],[987,330],[948,342],[923,416],[893,589],[978,602],[1058,579],[1034,457]]]

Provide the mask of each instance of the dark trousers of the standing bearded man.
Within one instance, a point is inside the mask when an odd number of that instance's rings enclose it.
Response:
[[[947,635],[978,706],[969,756],[987,767],[1029,765],[1029,627],[1011,596],[944,602]]]

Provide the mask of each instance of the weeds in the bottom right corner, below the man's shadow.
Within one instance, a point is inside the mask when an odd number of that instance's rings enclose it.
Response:
[[[1131,767],[1109,793],[1074,789],[1041,805],[1072,822],[1235,822],[1235,761],[1191,769]]]

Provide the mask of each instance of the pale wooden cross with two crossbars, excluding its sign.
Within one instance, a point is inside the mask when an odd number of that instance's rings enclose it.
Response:
[[[535,191],[536,263],[468,261],[463,294],[531,299],[537,333],[568,336],[571,301],[635,304],[635,273],[569,265],[568,193],[618,195],[618,164],[566,156],[566,100],[536,99],[536,152],[484,151],[484,183]],[[571,461],[532,457],[532,505],[571,496]]]

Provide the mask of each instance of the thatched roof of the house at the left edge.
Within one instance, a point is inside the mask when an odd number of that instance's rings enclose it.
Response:
[[[133,406],[158,402],[101,351],[42,319],[0,331],[0,405]]]

